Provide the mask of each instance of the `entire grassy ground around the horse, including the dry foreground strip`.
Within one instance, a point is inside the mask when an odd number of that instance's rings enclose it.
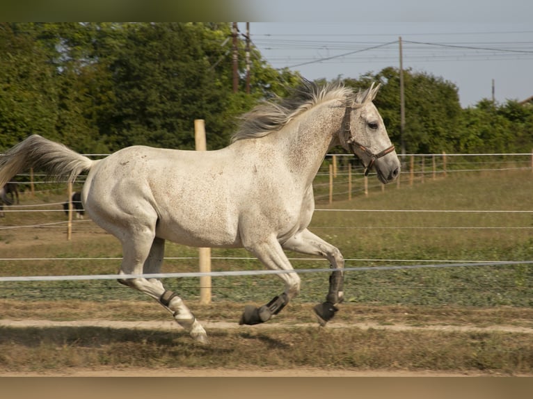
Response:
[[[318,209],[457,212],[317,211],[311,229],[340,248],[347,267],[453,261],[533,259],[533,174],[450,174],[424,184],[387,186],[352,201]],[[56,203],[63,194],[42,193],[31,202]],[[55,206],[55,209],[61,209]],[[92,222],[66,227],[6,229],[65,220],[61,212],[6,213],[0,220],[0,275],[114,274],[118,259],[28,260],[20,258],[118,258],[118,241]],[[194,248],[168,243],[166,257],[198,256]],[[213,270],[257,270],[243,250],[213,250]],[[290,258],[302,258],[289,253]],[[427,262],[428,261],[428,262]],[[196,271],[197,259],[167,259],[164,272]],[[294,260],[295,268],[327,268],[321,260]],[[301,275],[301,295],[273,323],[312,322],[310,307],[322,302],[328,275]],[[166,286],[191,304],[200,320],[237,321],[245,303],[264,303],[283,291],[275,276],[214,277],[213,304],[198,305],[198,279],[166,279]],[[533,267],[469,266],[346,273],[346,300],[335,321],[369,320],[379,325],[494,325],[533,327]],[[114,281],[0,283],[3,319],[168,320],[157,304]],[[134,300],[134,301],[132,301]],[[269,322],[270,323],[270,322]],[[359,327],[317,330],[212,332],[209,349],[190,345],[180,332],[113,331],[102,328],[0,328],[0,365],[6,369],[107,366],[246,366],[399,368],[493,373],[533,373],[533,335],[516,332],[387,331]],[[301,340],[301,341],[299,341]],[[299,343],[300,342],[300,343]],[[305,342],[305,345],[301,343]],[[262,350],[261,350],[262,349]],[[255,353],[253,352],[255,350]],[[263,353],[269,356],[262,356]],[[243,363],[244,361],[244,363]],[[228,363],[229,362],[229,363]]]

